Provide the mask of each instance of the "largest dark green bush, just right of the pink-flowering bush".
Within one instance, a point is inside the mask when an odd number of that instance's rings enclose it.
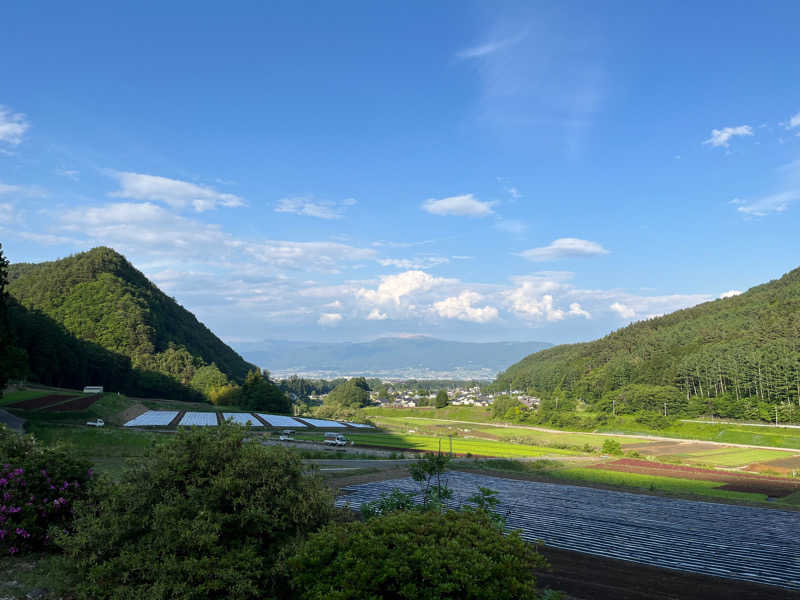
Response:
[[[263,598],[287,544],[326,523],[330,493],[280,447],[224,425],[183,430],[107,483],[57,541],[84,598]]]

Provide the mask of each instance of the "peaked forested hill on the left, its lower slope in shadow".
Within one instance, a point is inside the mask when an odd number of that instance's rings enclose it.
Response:
[[[192,397],[253,369],[109,248],[13,264],[8,279],[11,334],[32,379]]]

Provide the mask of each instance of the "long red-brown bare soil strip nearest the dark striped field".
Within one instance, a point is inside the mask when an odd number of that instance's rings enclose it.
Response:
[[[680,479],[719,481],[726,484],[722,487],[722,489],[725,490],[766,494],[774,498],[782,498],[793,492],[800,491],[800,482],[783,479],[781,477],[713,471],[711,469],[698,469],[696,467],[670,465],[648,460],[636,460],[633,458],[622,458],[613,462],[599,463],[589,468],[621,471],[624,473],[660,475],[662,477],[677,477]]]

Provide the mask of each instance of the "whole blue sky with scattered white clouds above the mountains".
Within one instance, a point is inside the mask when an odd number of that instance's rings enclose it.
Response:
[[[592,339],[799,266],[798,17],[14,3],[0,241],[112,246],[234,343]]]

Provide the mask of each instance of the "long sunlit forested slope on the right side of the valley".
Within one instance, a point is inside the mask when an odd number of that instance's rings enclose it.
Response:
[[[634,384],[640,387],[631,388]],[[781,420],[796,420],[800,269],[738,296],[633,323],[594,342],[537,352],[500,373],[495,387],[590,403],[605,398],[610,411],[616,391],[641,390],[643,384],[668,386],[685,404],[719,406],[713,410],[729,416],[772,418],[778,408]]]

